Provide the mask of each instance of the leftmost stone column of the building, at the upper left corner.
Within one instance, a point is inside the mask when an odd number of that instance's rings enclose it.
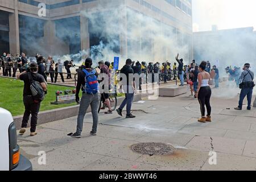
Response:
[[[18,0],[14,1],[14,13],[9,14],[9,29],[10,53],[16,56],[20,54]]]

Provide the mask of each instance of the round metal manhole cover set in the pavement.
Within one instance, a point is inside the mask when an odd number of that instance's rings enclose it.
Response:
[[[168,155],[172,154],[176,149],[170,144],[149,142],[133,144],[131,150],[148,155]]]

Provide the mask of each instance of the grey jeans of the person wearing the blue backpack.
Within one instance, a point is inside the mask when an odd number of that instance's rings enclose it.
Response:
[[[90,106],[92,109],[92,116],[93,116],[93,127],[92,131],[94,133],[97,132],[97,125],[98,125],[98,107],[100,105],[100,93],[96,93],[94,95],[91,94],[82,94],[80,107],[79,107],[79,115],[77,117],[77,134],[82,133],[82,124],[84,123],[84,117],[88,107]]]

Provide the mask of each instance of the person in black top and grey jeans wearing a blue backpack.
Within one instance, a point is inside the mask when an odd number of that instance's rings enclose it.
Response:
[[[82,125],[88,107],[92,109],[93,127],[91,135],[97,134],[98,126],[98,107],[100,105],[100,85],[98,84],[98,73],[92,68],[92,59],[89,57],[85,60],[85,65],[78,72],[76,86],[76,102],[80,103],[79,114],[77,116],[76,133],[71,134],[73,138],[81,138]],[[82,89],[82,98],[80,101],[79,92]]]

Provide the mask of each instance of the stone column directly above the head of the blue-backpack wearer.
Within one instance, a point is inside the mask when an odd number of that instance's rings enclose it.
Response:
[[[90,36],[89,36],[89,20],[85,15],[80,15],[80,34],[81,34],[81,51],[85,50],[90,53]]]

